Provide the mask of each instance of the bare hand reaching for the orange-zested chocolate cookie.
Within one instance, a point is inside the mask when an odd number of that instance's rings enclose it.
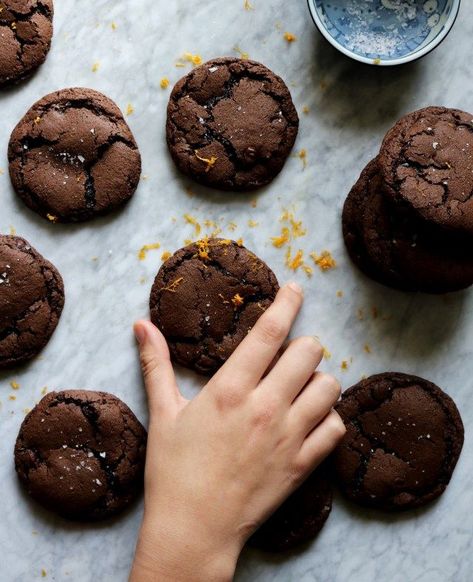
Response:
[[[298,338],[276,359],[301,304],[297,285],[281,289],[191,402],[163,336],[135,325],[150,427],[133,581],[230,580],[247,538],[343,437],[340,386],[314,372],[319,342]]]

